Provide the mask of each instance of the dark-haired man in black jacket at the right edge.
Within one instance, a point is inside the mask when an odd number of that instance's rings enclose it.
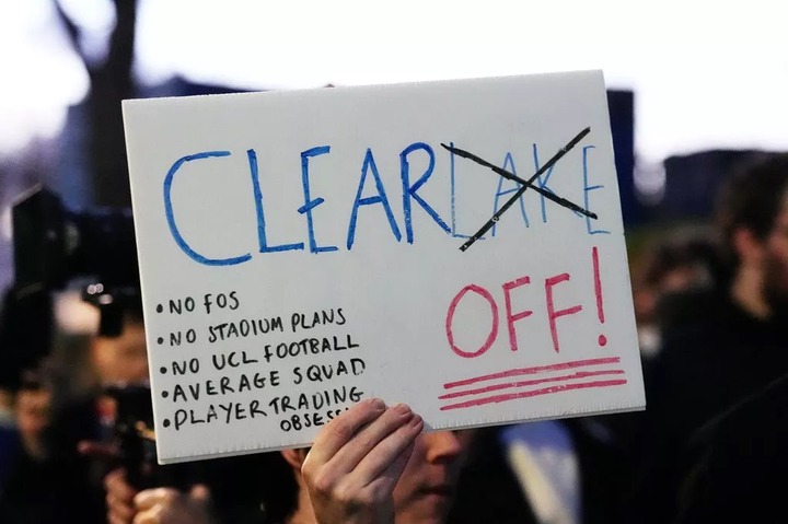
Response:
[[[696,461],[693,435],[788,373],[788,155],[731,177],[718,229],[728,278],[698,319],[665,331],[646,383],[644,463],[629,522],[671,522]]]

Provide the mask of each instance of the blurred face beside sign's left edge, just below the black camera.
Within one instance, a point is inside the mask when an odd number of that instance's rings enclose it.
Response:
[[[148,351],[141,322],[126,319],[118,337],[96,337],[92,351],[102,385],[148,380]]]

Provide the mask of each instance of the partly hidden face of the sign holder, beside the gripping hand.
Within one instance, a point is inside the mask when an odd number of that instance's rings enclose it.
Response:
[[[451,505],[473,430],[422,433],[394,489],[397,524],[441,523]]]

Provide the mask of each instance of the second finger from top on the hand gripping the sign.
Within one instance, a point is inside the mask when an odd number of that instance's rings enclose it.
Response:
[[[327,465],[340,474],[352,471],[383,439],[407,424],[413,416],[413,411],[405,404],[386,409],[337,451]]]

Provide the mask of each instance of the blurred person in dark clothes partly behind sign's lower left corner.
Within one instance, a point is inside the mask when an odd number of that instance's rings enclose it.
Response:
[[[86,299],[100,308],[100,327],[90,347],[97,386],[61,409],[50,432],[58,454],[88,479],[82,522],[106,522],[104,478],[118,466],[131,489],[209,492],[223,522],[259,522],[259,493],[246,481],[263,467],[257,456],[158,464],[139,288],[104,289]]]

